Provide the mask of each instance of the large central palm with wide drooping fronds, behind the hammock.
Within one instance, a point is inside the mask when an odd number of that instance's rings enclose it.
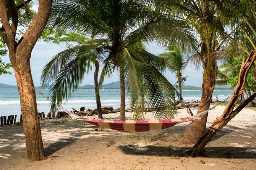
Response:
[[[166,61],[141,46],[155,42],[192,48],[195,40],[184,21],[153,9],[141,0],[55,0],[48,26],[95,39],[60,52],[45,66],[42,83],[52,82],[52,101],[61,105],[62,100],[67,100],[97,59],[103,65],[99,86],[113,71],[119,71],[122,121],[125,84],[134,119],[144,118],[145,106],[159,108],[155,112],[157,119],[172,118],[175,100],[170,98],[175,98],[176,91],[161,73]],[[51,108],[55,110],[56,106]]]

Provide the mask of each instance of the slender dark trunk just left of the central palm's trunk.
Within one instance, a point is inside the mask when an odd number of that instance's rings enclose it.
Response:
[[[96,60],[96,61],[95,61],[95,71],[94,71],[94,90],[95,90],[95,97],[96,97],[98,118],[99,118],[99,119],[103,119],[103,116],[102,116],[102,108],[101,108],[101,102],[100,102],[99,86],[98,86],[99,68],[100,68],[100,64],[99,64],[99,62]]]

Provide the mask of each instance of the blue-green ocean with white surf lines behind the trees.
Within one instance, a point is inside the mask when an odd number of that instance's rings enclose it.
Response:
[[[44,95],[49,96],[49,91],[45,89],[39,89]],[[214,91],[213,101],[218,97],[219,100],[225,100],[232,91]],[[182,91],[182,97],[186,102],[190,100],[200,100],[201,91]],[[44,97],[40,94],[36,94],[37,110],[38,112],[44,111],[47,114],[50,111],[49,104]],[[120,91],[117,89],[110,89],[109,91],[100,91],[100,99],[102,106],[113,106],[116,108],[120,106]],[[89,89],[79,89],[63,106],[67,110],[75,108],[79,110],[80,107],[94,109],[96,108],[95,92]],[[126,108],[129,108],[129,100],[126,99]],[[19,105],[18,89],[0,89],[0,116],[8,116],[11,114],[21,114]]]

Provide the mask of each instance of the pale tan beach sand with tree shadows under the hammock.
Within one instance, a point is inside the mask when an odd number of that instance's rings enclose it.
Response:
[[[217,106],[209,112],[207,127],[224,109],[225,106]],[[197,108],[192,111],[196,113]],[[177,117],[186,117],[186,113],[186,109],[178,110]],[[103,116],[119,118],[118,113]],[[132,119],[132,114],[126,113],[126,118]],[[256,169],[256,109],[243,109],[233,118],[207,144],[203,157],[184,154],[193,146],[180,141],[188,124],[151,132],[119,132],[71,119],[46,120],[41,128],[48,159],[39,162],[26,156],[23,127],[3,126],[0,127],[0,170]]]

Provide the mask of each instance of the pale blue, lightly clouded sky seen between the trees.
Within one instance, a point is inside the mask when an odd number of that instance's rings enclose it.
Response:
[[[38,8],[38,1],[34,2],[34,10],[37,11]],[[162,52],[165,51],[164,48],[151,44],[150,46],[146,47],[149,52],[151,52],[154,55],[159,55]],[[34,81],[35,86],[40,86],[40,77],[43,67],[52,59],[54,55],[56,55],[58,52],[61,52],[65,50],[64,45],[57,45],[57,44],[50,44],[46,42],[40,42],[37,41],[31,55],[31,72],[32,72],[32,78]],[[1,57],[3,62],[10,62],[9,56]],[[101,72],[102,68],[100,68],[99,73]],[[13,73],[12,75],[0,75],[0,83],[3,84],[10,84],[10,85],[16,85],[16,80],[14,76],[13,69],[11,68],[10,71]],[[195,70],[195,67],[193,65],[188,65],[186,67],[186,70],[183,72],[183,76],[188,76],[185,81],[185,85],[190,86],[202,86],[202,73],[203,69]],[[177,81],[177,78],[175,77],[175,73],[166,72],[165,77],[170,81],[170,83],[175,84]],[[106,79],[104,81],[104,84],[111,83],[113,81],[119,81],[119,75],[118,72],[115,72],[110,79]],[[81,86],[86,84],[94,84],[94,74],[93,71],[89,73],[87,76],[85,76],[83,82],[81,83]]]

